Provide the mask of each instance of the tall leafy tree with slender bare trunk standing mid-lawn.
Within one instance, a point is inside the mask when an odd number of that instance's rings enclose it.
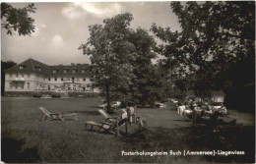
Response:
[[[136,53],[129,41],[132,20],[132,15],[125,13],[104,20],[103,26],[90,26],[90,38],[79,47],[84,54],[91,56],[92,80],[105,91],[108,112],[111,112],[110,90],[113,87],[128,87],[134,78],[131,63]]]

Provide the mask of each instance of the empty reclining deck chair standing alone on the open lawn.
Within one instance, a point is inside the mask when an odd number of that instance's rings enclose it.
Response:
[[[47,119],[65,121],[65,118],[67,118],[67,117],[73,118],[77,121],[77,114],[76,113],[67,113],[67,114],[61,114],[60,112],[51,113],[43,107],[39,107],[39,109],[43,113],[42,121],[46,121]]]

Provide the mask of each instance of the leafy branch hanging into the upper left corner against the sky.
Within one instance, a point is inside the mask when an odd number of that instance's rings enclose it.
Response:
[[[1,4],[1,26],[7,29],[7,34],[13,35],[18,31],[19,35],[31,35],[34,32],[34,20],[30,17],[30,13],[34,13],[33,4],[17,9],[7,3]]]

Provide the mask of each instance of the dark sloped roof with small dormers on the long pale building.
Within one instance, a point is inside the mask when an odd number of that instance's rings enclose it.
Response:
[[[21,70],[20,66],[24,68]],[[69,66],[48,66],[36,60],[28,59],[10,69],[5,70],[6,73],[36,73],[44,76],[73,76],[73,77],[89,77],[90,73],[88,71],[89,64],[80,64],[80,65],[69,65]],[[53,73],[53,70],[56,70],[56,73]],[[64,73],[64,70],[67,70],[67,73]],[[76,73],[72,71],[76,70]],[[82,70],[85,70],[85,73],[82,73]]]

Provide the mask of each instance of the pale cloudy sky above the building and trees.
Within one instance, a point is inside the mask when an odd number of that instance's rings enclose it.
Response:
[[[28,3],[12,3],[22,8]],[[150,31],[153,23],[160,27],[180,30],[177,17],[169,2],[65,2],[34,3],[35,32],[31,36],[7,35],[1,30],[1,58],[21,63],[29,58],[47,65],[91,63],[78,47],[90,37],[88,27],[103,24],[103,20],[129,12],[134,20],[131,27]],[[151,33],[153,35],[153,33]]]

